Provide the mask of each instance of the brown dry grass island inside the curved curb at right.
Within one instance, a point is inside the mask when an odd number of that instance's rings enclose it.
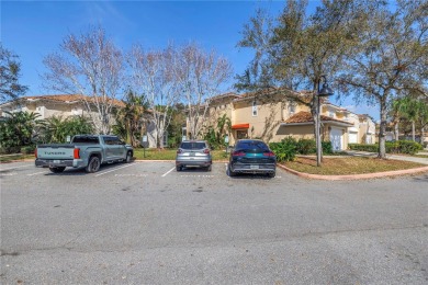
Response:
[[[282,164],[299,172],[322,175],[363,174],[426,167],[416,162],[363,157],[324,158],[319,168],[316,167],[316,158],[300,157]]]

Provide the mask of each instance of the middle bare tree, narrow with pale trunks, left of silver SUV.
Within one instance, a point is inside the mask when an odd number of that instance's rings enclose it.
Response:
[[[151,111],[154,140],[158,148],[171,122],[172,107],[179,100],[177,81],[171,70],[173,56],[172,46],[146,52],[142,45],[135,45],[127,57],[135,89],[146,96]]]

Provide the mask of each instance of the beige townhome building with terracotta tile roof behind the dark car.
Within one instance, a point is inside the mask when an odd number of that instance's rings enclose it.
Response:
[[[311,139],[315,137],[311,110],[300,103],[305,100],[311,100],[308,93],[302,93],[299,101],[278,95],[221,94],[211,100],[204,124],[215,126],[221,116],[229,117],[229,145],[241,138],[259,138],[268,142],[281,141],[289,136]],[[374,144],[374,122],[368,115],[358,115],[322,100],[320,123],[322,139],[331,141],[335,151],[347,149],[348,144]]]

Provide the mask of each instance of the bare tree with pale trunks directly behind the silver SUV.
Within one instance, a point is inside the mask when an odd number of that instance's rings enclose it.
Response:
[[[198,138],[210,100],[230,77],[232,66],[215,52],[205,53],[195,43],[177,49],[173,58],[172,70],[187,106],[188,133],[191,138]]]

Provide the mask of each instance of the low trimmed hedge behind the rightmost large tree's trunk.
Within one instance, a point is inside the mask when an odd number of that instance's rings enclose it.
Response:
[[[349,144],[348,148],[351,150],[379,152],[379,144],[375,145]],[[420,144],[412,140],[386,141],[385,148],[386,148],[386,153],[407,153],[407,155],[415,155],[419,150],[424,149],[424,147]]]

